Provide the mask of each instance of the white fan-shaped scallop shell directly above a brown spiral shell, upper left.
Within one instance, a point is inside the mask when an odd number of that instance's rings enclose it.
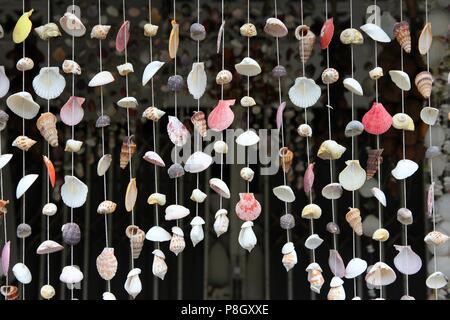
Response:
[[[59,74],[58,67],[41,68],[33,79],[33,89],[42,99],[55,99],[61,95],[66,87],[66,80]]]

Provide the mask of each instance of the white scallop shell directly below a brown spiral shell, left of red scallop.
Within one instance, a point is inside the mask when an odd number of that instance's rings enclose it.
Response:
[[[321,95],[320,87],[313,79],[298,77],[289,89],[289,98],[299,108],[308,108],[316,104]]]

